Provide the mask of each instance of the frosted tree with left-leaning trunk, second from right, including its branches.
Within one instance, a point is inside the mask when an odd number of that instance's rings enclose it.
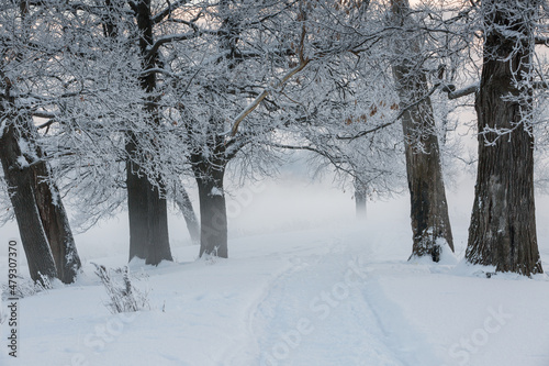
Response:
[[[452,249],[437,141],[439,126],[430,101],[441,81],[428,84],[433,60],[427,55],[433,48],[423,49],[422,40],[427,26],[435,24],[438,29],[429,30],[449,33],[448,26],[438,19],[432,24],[416,24],[407,2],[392,2],[386,23],[385,3],[313,3],[330,11],[306,13],[313,52],[296,80],[312,87],[300,90],[293,82],[283,93],[300,100],[302,115],[298,119],[305,122],[296,130],[309,144],[296,148],[315,151],[354,176],[360,211],[366,190],[391,191],[391,186],[397,186],[390,182],[399,175],[394,163],[399,162],[395,154],[402,134],[395,133],[394,124],[401,119],[412,196],[413,255],[430,255],[438,260],[441,246],[447,244]],[[337,25],[323,24],[329,16],[337,20]]]

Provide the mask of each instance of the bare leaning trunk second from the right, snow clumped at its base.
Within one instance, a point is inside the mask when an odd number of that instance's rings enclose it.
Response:
[[[404,26],[410,23],[411,10],[407,0],[392,0],[391,5],[396,24]],[[444,242],[453,252],[453,240],[433,106],[430,98],[425,98],[428,92],[427,77],[421,71],[421,67],[417,67],[416,56],[421,52],[417,40],[403,35],[402,40],[396,42],[395,49],[402,55],[393,66],[401,109],[424,99],[402,117],[414,235],[412,257],[428,255],[434,262],[438,262]]]

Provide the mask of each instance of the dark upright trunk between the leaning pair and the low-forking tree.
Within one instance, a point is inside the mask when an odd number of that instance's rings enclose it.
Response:
[[[139,37],[139,51],[142,56],[142,68],[148,70],[154,68],[158,60],[157,53],[150,54],[153,45],[153,19],[150,13],[150,0],[141,0],[134,8],[137,27],[142,32]],[[147,93],[156,90],[155,73],[144,73],[139,77],[139,84]],[[144,107],[150,117],[152,125],[159,123],[158,107],[153,97],[149,97]],[[163,185],[157,180],[156,185],[150,182],[136,162],[139,156],[139,137],[133,133],[126,134],[126,186],[127,209],[130,219],[130,260],[133,257],[144,258],[145,263],[158,265],[161,260],[172,260],[168,234],[168,207]],[[146,138],[146,137],[145,137]]]

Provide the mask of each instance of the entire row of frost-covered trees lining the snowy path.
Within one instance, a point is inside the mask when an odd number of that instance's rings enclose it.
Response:
[[[227,257],[225,173],[272,170],[281,149],[313,152],[362,202],[396,189],[405,164],[413,256],[438,262],[453,251],[440,142],[448,110],[470,93],[479,171],[466,257],[541,271],[533,151],[544,127],[542,5],[7,1],[0,158],[5,218],[18,220],[32,278],[78,273],[61,198],[83,226],[127,202],[130,259],[153,265],[171,260],[173,200],[200,230],[200,255]]]

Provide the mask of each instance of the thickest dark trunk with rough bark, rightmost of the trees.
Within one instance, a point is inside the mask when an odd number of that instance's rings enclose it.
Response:
[[[524,275],[542,271],[534,204],[531,89],[527,84],[534,53],[533,18],[539,3],[482,2],[486,33],[475,100],[479,166],[466,252],[470,263]],[[508,35],[503,36],[502,29]],[[522,38],[515,38],[517,35]],[[498,136],[486,129],[512,132]]]

